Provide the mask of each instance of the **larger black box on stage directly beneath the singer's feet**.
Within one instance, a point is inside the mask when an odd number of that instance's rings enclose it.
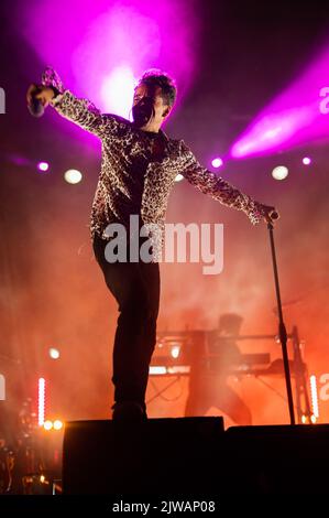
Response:
[[[213,494],[222,418],[76,421],[65,427],[63,493]]]

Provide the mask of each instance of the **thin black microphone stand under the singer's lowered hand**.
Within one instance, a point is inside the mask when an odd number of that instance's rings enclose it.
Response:
[[[279,337],[279,342],[281,342],[281,346],[282,346],[282,355],[283,355],[283,363],[284,363],[284,370],[285,370],[289,417],[290,417],[290,424],[295,424],[294,399],[293,399],[290,369],[289,369],[289,360],[288,360],[288,353],[287,353],[287,332],[286,332],[286,326],[285,326],[285,323],[284,323],[284,320],[283,320],[283,312],[282,312],[278,274],[277,274],[277,265],[276,265],[276,255],[275,255],[275,246],[274,246],[273,224],[267,223],[267,228],[268,228],[268,233],[270,233],[270,244],[271,244],[272,262],[273,262],[273,271],[274,271],[276,302],[277,302],[278,337]]]

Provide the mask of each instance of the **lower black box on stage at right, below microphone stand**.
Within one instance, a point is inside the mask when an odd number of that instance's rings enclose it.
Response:
[[[224,493],[329,494],[329,425],[232,427]]]

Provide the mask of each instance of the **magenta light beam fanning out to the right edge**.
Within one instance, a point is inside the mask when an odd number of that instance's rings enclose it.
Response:
[[[240,159],[271,154],[328,139],[329,110],[325,109],[329,100],[328,63],[329,47],[256,117],[232,145],[231,155]]]

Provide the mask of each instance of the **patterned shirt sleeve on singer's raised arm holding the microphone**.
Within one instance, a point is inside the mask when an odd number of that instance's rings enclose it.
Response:
[[[42,85],[54,87],[58,94],[50,105],[66,119],[80,126],[83,129],[99,138],[108,136],[117,126],[116,118],[111,115],[102,115],[88,99],[78,99],[72,91],[64,88],[58,74],[46,67],[42,75]]]

